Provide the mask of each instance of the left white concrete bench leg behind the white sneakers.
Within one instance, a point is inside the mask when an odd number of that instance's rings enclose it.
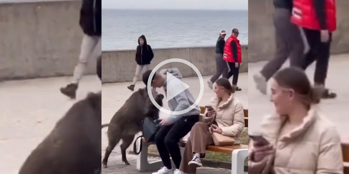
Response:
[[[143,143],[142,151],[137,156],[137,165],[136,168],[140,172],[145,171],[153,171],[158,170],[163,167],[163,163],[161,160],[152,161],[149,163],[148,161],[148,143]]]

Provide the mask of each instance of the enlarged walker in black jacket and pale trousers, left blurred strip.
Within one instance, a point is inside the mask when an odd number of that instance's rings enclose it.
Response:
[[[91,58],[95,59],[102,55],[101,2],[101,0],[82,0],[79,24],[84,36],[81,44],[79,62],[75,66],[72,82],[60,88],[62,94],[73,99],[76,97],[76,90],[86,70],[88,61]]]

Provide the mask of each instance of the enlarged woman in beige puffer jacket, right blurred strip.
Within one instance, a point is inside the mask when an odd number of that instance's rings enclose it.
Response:
[[[262,122],[270,144],[249,144],[250,174],[343,174],[339,133],[323,116],[306,74],[297,68],[279,71],[271,79],[276,114]]]

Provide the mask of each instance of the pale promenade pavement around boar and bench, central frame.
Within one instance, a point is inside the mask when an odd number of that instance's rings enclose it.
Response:
[[[212,89],[208,88],[206,81],[209,80],[210,77],[203,77],[204,80],[204,93],[203,97],[199,103],[199,105],[205,105],[209,103],[210,99],[215,96],[215,93],[213,92]],[[241,73],[239,75],[239,82],[238,85],[240,88],[243,90],[240,92],[236,93],[236,96],[243,102],[244,107],[248,107],[248,75],[247,73]],[[183,80],[187,85],[190,86],[190,91],[194,95],[195,98],[198,97],[199,91],[200,91],[200,82],[199,79],[196,77],[192,78],[184,78]],[[102,123],[108,123],[114,113],[124,104],[126,99],[132,94],[130,90],[128,90],[126,87],[130,84],[131,82],[122,82],[122,83],[114,83],[114,84],[103,84],[102,85]],[[139,81],[136,84],[135,89],[145,87],[143,85],[143,82]],[[162,89],[158,89],[159,93],[163,93]],[[164,99],[164,108],[169,109],[166,99]],[[160,117],[167,117],[168,115],[165,113],[161,113]],[[107,137],[106,137],[106,132],[107,129],[102,130],[102,159],[104,157],[105,153],[105,148],[107,147]],[[133,146],[131,145],[130,148],[127,150],[132,150]],[[120,157],[120,148],[117,146],[108,162],[109,168],[102,169],[102,174],[122,174],[122,173],[128,173],[128,174],[136,174],[136,167],[135,161],[136,156],[135,155],[127,155],[128,160],[130,161],[132,166],[126,166],[124,163],[121,162],[121,157]],[[151,172],[150,172],[151,173]],[[198,173],[217,173],[217,174],[224,174],[224,173],[230,173],[230,171],[227,170],[222,170],[222,169],[211,169],[211,168],[202,168],[200,172]],[[143,174],[148,174],[148,173],[143,173]]]

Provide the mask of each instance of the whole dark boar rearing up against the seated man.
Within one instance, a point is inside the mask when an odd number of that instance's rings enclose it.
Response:
[[[155,101],[162,106],[164,96],[157,94]],[[109,145],[105,150],[105,156],[102,161],[103,167],[107,167],[108,158],[111,151],[122,140],[121,156],[122,161],[129,165],[126,158],[126,149],[132,144],[134,136],[142,130],[142,121],[146,117],[159,118],[159,109],[157,109],[147,93],[146,88],[134,92],[124,105],[114,114],[109,124],[102,125],[102,128],[108,126]]]

